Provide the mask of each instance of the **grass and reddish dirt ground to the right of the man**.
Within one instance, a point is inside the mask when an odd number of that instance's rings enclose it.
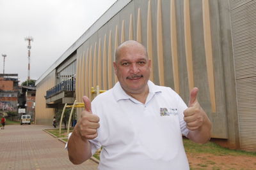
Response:
[[[190,170],[255,170],[256,152],[230,150],[208,142],[204,145],[183,139]]]

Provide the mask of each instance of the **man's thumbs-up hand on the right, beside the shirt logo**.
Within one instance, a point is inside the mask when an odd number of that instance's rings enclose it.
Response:
[[[184,121],[187,124],[187,128],[190,131],[196,131],[202,127],[206,113],[202,110],[200,104],[197,101],[198,88],[190,92],[188,108],[184,110]],[[207,117],[207,116],[206,116]]]

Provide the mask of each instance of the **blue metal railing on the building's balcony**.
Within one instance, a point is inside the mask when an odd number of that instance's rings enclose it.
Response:
[[[59,92],[63,91],[75,91],[76,90],[76,81],[62,81],[58,85],[52,87],[52,89],[46,91],[46,96],[45,98],[49,98],[51,96],[54,96],[58,94]]]

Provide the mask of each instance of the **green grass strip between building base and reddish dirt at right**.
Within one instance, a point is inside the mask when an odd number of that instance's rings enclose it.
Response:
[[[183,139],[184,148],[186,150],[186,153],[211,153],[213,155],[234,155],[234,156],[251,156],[256,157],[256,152],[246,152],[243,150],[230,150],[228,148],[223,148],[220,145],[208,142],[204,145],[194,143],[193,141],[190,141],[189,139]]]

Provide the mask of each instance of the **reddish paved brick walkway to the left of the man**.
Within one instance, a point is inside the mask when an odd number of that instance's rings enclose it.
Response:
[[[42,129],[45,125],[6,125],[0,129],[0,169],[83,169],[95,170],[98,164],[87,160],[75,166],[68,160],[65,144]]]

